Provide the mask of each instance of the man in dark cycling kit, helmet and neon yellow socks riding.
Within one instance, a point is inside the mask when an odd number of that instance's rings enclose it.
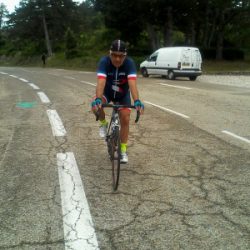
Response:
[[[134,61],[127,57],[125,42],[114,40],[111,44],[109,55],[100,59],[97,69],[96,95],[91,106],[95,113],[100,109],[100,136],[107,134],[108,122],[101,108],[102,103],[115,102],[131,105],[130,93],[137,110],[143,113],[144,105],[139,99],[136,85],[136,67]],[[121,163],[128,162],[127,142],[129,133],[130,112],[128,108],[120,110],[121,121]]]

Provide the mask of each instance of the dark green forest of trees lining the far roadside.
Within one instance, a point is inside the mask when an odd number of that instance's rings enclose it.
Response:
[[[250,53],[250,0],[21,0],[0,5],[0,56],[46,53],[98,57],[114,39],[145,57],[167,46],[195,46],[203,57],[242,60]]]

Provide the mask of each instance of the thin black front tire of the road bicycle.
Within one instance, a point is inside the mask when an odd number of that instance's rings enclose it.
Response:
[[[120,155],[121,155],[121,139],[119,127],[113,131],[111,143],[111,162],[112,162],[112,186],[116,191],[119,185],[120,178]]]

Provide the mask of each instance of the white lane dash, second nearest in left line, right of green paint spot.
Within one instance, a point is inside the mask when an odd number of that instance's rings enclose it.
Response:
[[[47,115],[49,117],[50,125],[52,128],[52,133],[54,136],[65,136],[66,130],[63,126],[62,120],[57,114],[56,110],[47,110]]]

